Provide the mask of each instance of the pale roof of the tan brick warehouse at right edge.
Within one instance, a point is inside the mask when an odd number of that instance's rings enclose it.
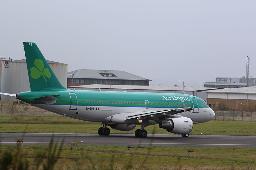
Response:
[[[240,88],[232,88],[232,89],[218,89],[218,90],[209,90],[205,92],[210,93],[256,93],[256,86],[252,87],[240,87]]]

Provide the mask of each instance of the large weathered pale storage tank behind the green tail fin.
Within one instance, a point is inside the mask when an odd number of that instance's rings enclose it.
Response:
[[[46,60],[60,83],[67,87],[68,64]],[[0,58],[0,89],[4,93],[16,94],[30,91],[26,59],[12,61],[11,58]],[[13,100],[11,96],[1,95],[3,100]]]

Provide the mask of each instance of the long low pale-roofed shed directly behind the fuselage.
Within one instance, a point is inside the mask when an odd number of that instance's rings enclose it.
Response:
[[[68,89],[72,87],[69,86]],[[156,93],[181,93],[182,87],[171,86],[147,86],[147,85],[79,85],[73,86],[73,90],[101,90],[101,91],[118,91],[118,92],[156,92]],[[204,87],[184,87],[184,92],[193,96],[200,97],[206,101],[205,91],[220,88],[204,88]]]

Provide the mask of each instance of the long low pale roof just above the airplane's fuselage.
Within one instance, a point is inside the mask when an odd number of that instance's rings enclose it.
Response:
[[[71,87],[71,86],[70,86]],[[73,86],[73,88],[110,88],[110,85],[78,85]],[[136,90],[169,90],[169,91],[182,91],[182,87],[173,86],[148,86],[148,85],[111,85],[112,89],[136,89]],[[210,88],[210,87],[184,87],[184,91],[204,91],[220,88]]]

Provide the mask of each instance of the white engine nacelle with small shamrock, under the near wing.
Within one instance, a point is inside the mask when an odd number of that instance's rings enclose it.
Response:
[[[175,134],[187,134],[193,129],[193,121],[188,117],[174,117],[168,122],[159,123],[159,128]]]

